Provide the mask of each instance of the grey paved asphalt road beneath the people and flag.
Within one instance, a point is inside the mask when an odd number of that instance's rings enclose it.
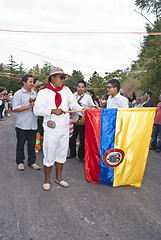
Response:
[[[160,153],[150,152],[141,188],[88,183],[75,158],[64,165],[69,188],[54,183],[53,171],[45,192],[43,170],[16,169],[14,114],[0,125],[0,240],[161,239]]]

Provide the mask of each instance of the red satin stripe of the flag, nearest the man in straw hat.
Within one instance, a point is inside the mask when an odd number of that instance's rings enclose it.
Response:
[[[85,171],[89,182],[98,183],[100,178],[101,109],[85,111]]]

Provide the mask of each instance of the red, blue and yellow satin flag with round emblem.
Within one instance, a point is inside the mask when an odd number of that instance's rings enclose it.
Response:
[[[156,108],[85,111],[86,179],[141,187]]]

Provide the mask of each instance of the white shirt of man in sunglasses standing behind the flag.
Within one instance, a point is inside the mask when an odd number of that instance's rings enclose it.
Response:
[[[107,107],[106,108],[128,108],[129,102],[128,99],[120,93],[116,94],[114,97],[111,95],[107,99]]]

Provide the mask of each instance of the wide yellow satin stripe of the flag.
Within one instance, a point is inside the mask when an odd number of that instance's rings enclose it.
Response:
[[[141,187],[155,112],[156,108],[118,109],[115,148],[123,150],[125,156],[114,169],[114,187]]]

